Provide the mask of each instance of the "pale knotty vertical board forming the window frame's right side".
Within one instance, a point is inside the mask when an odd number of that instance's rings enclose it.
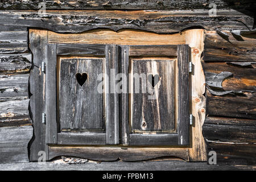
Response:
[[[186,43],[191,47],[191,100],[193,125],[191,127],[191,147],[188,150],[189,160],[206,161],[207,147],[203,137],[202,126],[205,119],[205,76],[201,65],[201,53],[204,51],[204,30],[193,29],[185,31]]]

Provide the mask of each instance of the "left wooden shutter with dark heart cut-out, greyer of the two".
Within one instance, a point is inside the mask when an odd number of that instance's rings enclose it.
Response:
[[[118,47],[48,44],[46,53],[46,143],[118,144],[118,95],[98,78],[118,71]]]

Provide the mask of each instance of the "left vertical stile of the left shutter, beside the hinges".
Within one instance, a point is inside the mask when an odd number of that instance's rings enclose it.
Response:
[[[56,44],[46,46],[46,144],[57,143]]]

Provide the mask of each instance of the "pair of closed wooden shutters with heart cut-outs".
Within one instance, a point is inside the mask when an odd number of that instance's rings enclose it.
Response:
[[[46,143],[189,145],[189,52],[48,44]]]

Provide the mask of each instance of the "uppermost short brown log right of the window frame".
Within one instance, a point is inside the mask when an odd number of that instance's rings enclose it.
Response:
[[[205,61],[251,61],[255,62],[256,39],[242,37],[237,40],[228,31],[228,38],[222,38],[216,31],[205,31],[204,60]]]

